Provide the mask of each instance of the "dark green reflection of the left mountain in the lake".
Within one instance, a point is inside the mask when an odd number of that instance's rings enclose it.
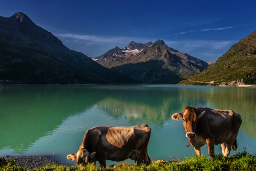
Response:
[[[97,92],[67,86],[6,86],[1,90],[0,149],[11,146],[16,153],[26,151],[65,118],[100,99]]]

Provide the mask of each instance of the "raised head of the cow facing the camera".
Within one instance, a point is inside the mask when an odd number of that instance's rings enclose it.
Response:
[[[172,115],[172,119],[180,120],[183,119],[183,125],[186,131],[187,138],[196,137],[196,125],[197,120],[203,116],[205,112],[198,112],[195,108],[187,106],[182,113],[175,113]]]

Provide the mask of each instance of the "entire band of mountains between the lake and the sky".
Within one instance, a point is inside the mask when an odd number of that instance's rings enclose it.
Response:
[[[0,84],[166,83],[212,86],[256,84],[256,32],[216,62],[205,62],[163,40],[90,58],[68,49],[23,12],[0,16]]]

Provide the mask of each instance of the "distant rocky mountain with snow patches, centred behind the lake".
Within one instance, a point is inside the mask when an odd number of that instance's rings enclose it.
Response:
[[[142,83],[178,83],[181,80],[203,71],[208,64],[200,59],[169,48],[163,40],[143,45],[131,42],[126,48],[117,47],[111,51],[93,58],[104,67],[118,71],[127,77]],[[136,54],[126,54],[127,49]],[[115,53],[111,53],[112,51]],[[124,51],[123,51],[124,50]]]

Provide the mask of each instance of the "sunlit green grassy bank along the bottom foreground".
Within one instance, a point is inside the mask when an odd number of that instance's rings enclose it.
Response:
[[[27,170],[22,166],[17,166],[15,161],[6,161],[0,158],[0,170]],[[49,165],[31,170],[256,170],[256,156],[246,152],[224,158],[222,155],[216,155],[214,160],[201,156],[185,158],[183,161],[173,161],[165,163],[152,162],[151,165],[121,164],[115,167],[100,169],[98,166],[88,164],[82,168],[67,165]]]

